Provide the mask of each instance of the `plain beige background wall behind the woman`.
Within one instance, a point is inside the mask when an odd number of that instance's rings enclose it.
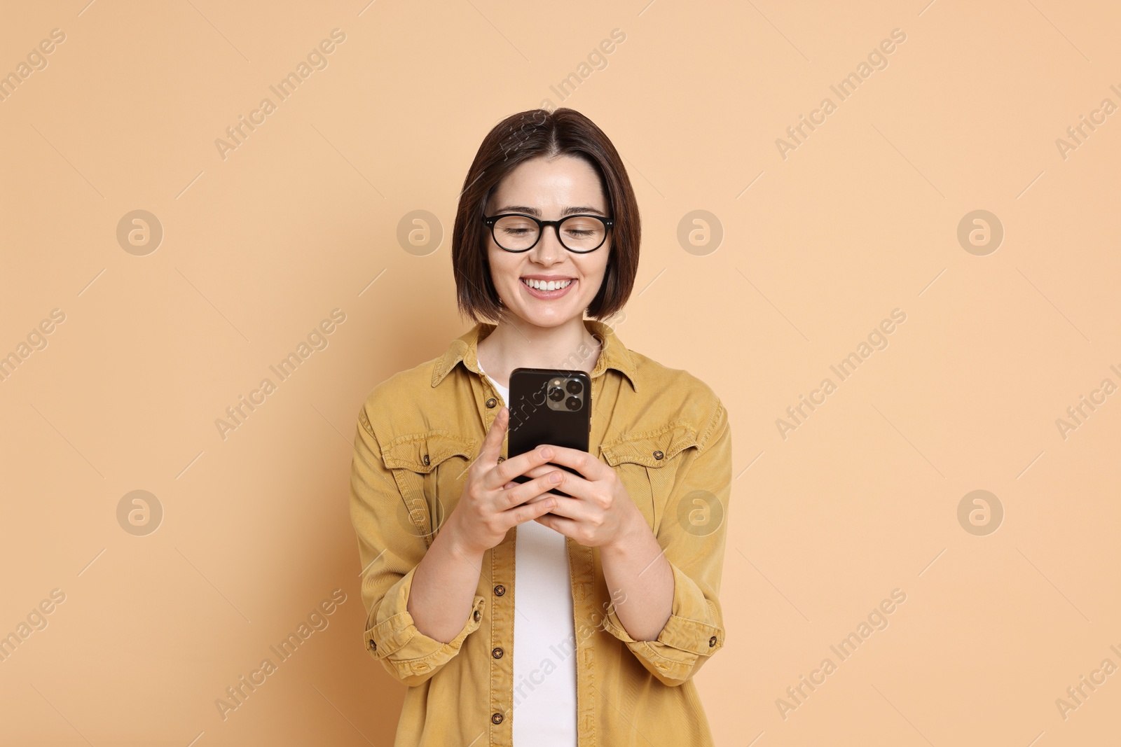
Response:
[[[467,328],[446,235],[463,176],[545,100],[612,138],[638,194],[618,334],[731,412],[728,645],[697,676],[717,744],[1118,739],[1121,673],[1056,706],[1121,666],[1121,393],[1056,424],[1121,384],[1121,113],[1056,144],[1121,105],[1114,3],[86,2],[0,24],[4,74],[65,34],[0,102],[0,354],[65,314],[0,383],[0,634],[65,594],[0,663],[3,744],[391,744],[404,689],[362,648],[346,507],[356,412]],[[215,139],[335,28],[327,67],[223,159]],[[892,29],[887,68],[840,101]],[[117,240],[135,209],[163,226],[147,255]],[[723,231],[703,255],[677,237],[697,209]],[[1004,230],[986,255],[957,240],[975,209]],[[413,211],[443,226],[430,253],[398,242]],[[223,439],[215,419],[336,308],[328,346]],[[164,512],[145,536],[117,517],[136,489]],[[1003,507],[988,535],[957,519],[975,489]],[[222,720],[225,688],[334,589],[330,626]],[[831,644],[893,589],[842,662]]]

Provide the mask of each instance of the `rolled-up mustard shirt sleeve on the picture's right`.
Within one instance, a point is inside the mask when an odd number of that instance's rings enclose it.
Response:
[[[603,618],[603,627],[622,641],[659,682],[670,687],[688,681],[724,645],[719,594],[732,482],[732,435],[728,412],[719,400],[698,447],[679,468],[657,534],[674,573],[669,619],[655,641],[636,641],[613,605]],[[683,499],[697,496],[710,503],[710,515],[719,515],[716,525],[711,531],[705,527],[704,533],[674,519]]]

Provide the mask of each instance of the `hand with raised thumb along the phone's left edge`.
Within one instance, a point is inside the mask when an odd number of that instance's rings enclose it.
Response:
[[[552,477],[560,471],[558,467],[544,466],[548,459],[540,449],[498,460],[509,422],[510,410],[503,407],[483,439],[479,458],[467,468],[463,495],[444,525],[443,531],[451,529],[456,544],[466,554],[481,555],[499,544],[511,527],[532,521],[556,505],[556,499],[548,495],[527,503],[553,489]],[[513,483],[518,475],[534,479]],[[556,477],[559,482],[558,474]]]

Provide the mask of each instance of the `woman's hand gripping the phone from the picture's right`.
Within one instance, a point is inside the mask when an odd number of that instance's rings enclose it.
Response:
[[[553,489],[572,497],[553,495],[557,504],[552,512],[534,521],[545,524],[590,548],[621,545],[630,532],[647,526],[638,506],[631,499],[619,474],[587,451],[548,446],[546,458],[555,465],[572,467],[580,475],[553,467],[559,476]],[[541,465],[538,469],[549,469]],[[541,498],[547,493],[541,494]],[[555,514],[555,515],[554,515]]]

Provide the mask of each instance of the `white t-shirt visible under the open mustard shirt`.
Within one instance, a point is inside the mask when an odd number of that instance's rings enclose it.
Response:
[[[487,379],[507,404],[510,390]],[[576,747],[576,633],[565,535],[535,521],[516,531],[513,744]]]

